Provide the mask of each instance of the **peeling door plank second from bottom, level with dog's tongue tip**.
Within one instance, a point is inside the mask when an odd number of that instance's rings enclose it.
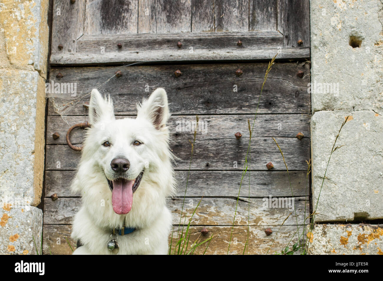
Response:
[[[107,198],[105,199],[107,200]],[[295,197],[295,203],[291,203],[293,200],[292,198],[287,198],[287,201],[284,201],[283,198],[280,199],[284,204],[288,203],[290,205],[285,205],[285,208],[268,208],[266,205],[264,205],[269,203],[268,197],[265,197],[265,200],[262,198],[250,198],[250,225],[280,225],[291,212],[293,212],[293,214],[291,214],[291,216],[286,219],[284,225],[296,225],[297,221],[298,224],[303,224],[305,206],[306,216],[308,216],[309,213],[309,201],[306,200],[306,197]],[[272,199],[270,198],[270,204],[271,200]],[[185,204],[183,206],[181,218],[183,198],[168,198],[167,206],[169,207],[170,211],[172,211],[174,223],[178,224],[180,222],[180,218],[181,223],[183,223],[186,216],[186,221],[188,222],[191,219],[191,224],[193,225],[232,225],[234,211],[236,210],[236,199],[202,198],[201,203],[198,206],[193,218],[191,218],[191,214],[193,214],[193,211],[195,210],[199,201],[200,198],[185,198]],[[247,225],[249,214],[248,201],[248,198],[243,197],[238,201],[234,225]],[[59,198],[55,201],[47,199],[44,202],[44,224],[72,223],[73,217],[80,210],[81,205],[81,198]],[[297,213],[296,217],[294,208]]]

